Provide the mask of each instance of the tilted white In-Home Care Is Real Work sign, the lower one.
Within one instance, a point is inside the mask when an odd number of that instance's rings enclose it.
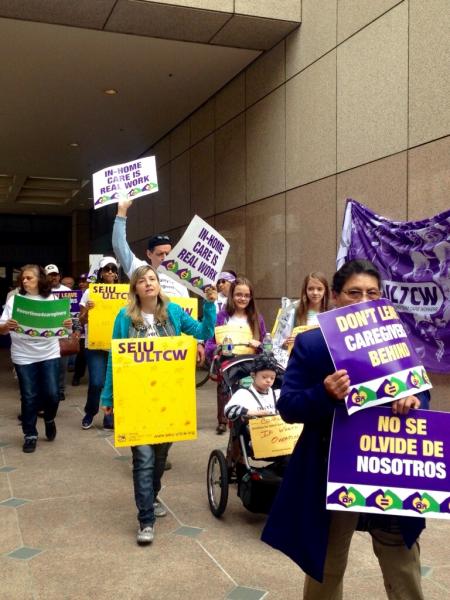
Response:
[[[226,239],[195,215],[159,270],[204,298],[205,289],[215,284],[222,271],[229,249]]]

